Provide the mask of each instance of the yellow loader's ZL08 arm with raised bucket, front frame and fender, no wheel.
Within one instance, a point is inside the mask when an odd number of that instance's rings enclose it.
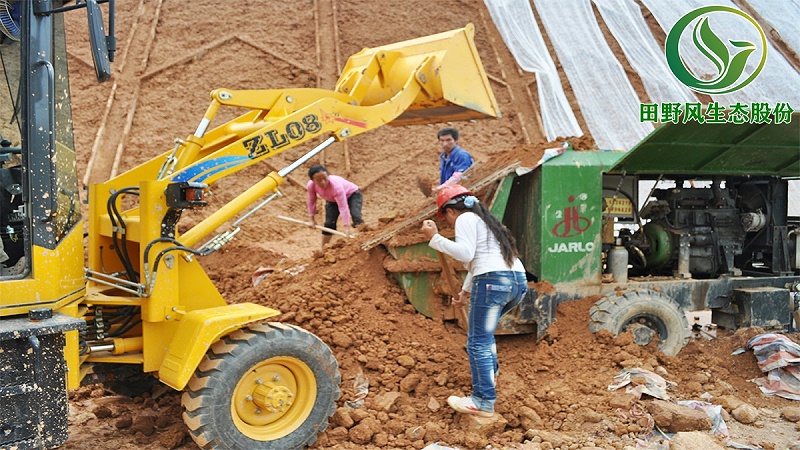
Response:
[[[216,89],[196,131],[178,141],[174,150],[92,185],[87,302],[140,308],[145,344],[134,348],[133,355],[119,357],[140,362],[145,372],[157,372],[165,384],[183,389],[213,342],[248,323],[279,314],[260,305],[227,305],[194,260],[193,254],[214,251],[235,232],[206,241],[199,249],[193,247],[261,197],[277,192],[289,172],[328,145],[386,124],[498,117],[473,34],[469,24],[364,49],[350,57],[333,91]],[[209,129],[221,107],[248,111]],[[181,212],[204,204],[198,189],[312,140],[321,143],[192,228],[178,232]],[[138,196],[138,206],[120,212],[123,195]],[[110,249],[115,249],[117,257]],[[211,308],[217,320],[204,320]],[[153,340],[148,334],[171,344],[148,346],[146,342]],[[181,344],[178,336],[193,336],[192,345]],[[90,353],[86,360],[107,358]]]

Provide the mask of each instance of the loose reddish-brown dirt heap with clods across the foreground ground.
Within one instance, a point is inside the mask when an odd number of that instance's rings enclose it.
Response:
[[[385,251],[364,252],[359,242],[338,241],[301,261],[265,252],[258,261],[274,271],[250,287],[250,274],[233,266],[252,250],[215,254],[209,266],[217,285],[234,302],[284,311],[276,321],[320,336],[340,364],[340,408],[315,448],[419,449],[433,442],[473,449],[539,448],[522,447],[525,442],[562,449],[635,446],[654,432],[645,412],[652,399],[621,407],[619,394],[608,390],[621,369],[635,367],[663,374],[674,383],[669,395],[675,399],[733,395],[760,408],[748,429],[729,418],[729,426],[741,427],[732,429],[740,443],[788,448],[796,440],[793,424],[779,417],[793,402],[766,397],[749,381],[762,375],[752,353],[731,356],[763,330],[699,337],[677,357],[665,357],[634,344],[629,334],[591,334],[586,318],[593,298],[560,305],[556,323],[539,343],[531,336],[498,337],[502,425],[486,440],[467,432],[445,403],[449,395],[470,392],[463,330],[416,313],[384,271],[384,259],[391,258]],[[180,422],[179,394],[162,386],[133,398],[87,387],[72,400],[73,438],[64,448],[194,448]]]

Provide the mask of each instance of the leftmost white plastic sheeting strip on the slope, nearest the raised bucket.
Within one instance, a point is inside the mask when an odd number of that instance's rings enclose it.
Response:
[[[483,2],[517,64],[522,70],[536,74],[536,90],[547,140],[583,136],[528,0]]]

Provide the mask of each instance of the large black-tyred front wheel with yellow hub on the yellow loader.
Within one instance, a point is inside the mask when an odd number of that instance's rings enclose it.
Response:
[[[328,426],[339,398],[339,366],[318,337],[269,323],[217,341],[181,403],[204,449],[300,449]]]

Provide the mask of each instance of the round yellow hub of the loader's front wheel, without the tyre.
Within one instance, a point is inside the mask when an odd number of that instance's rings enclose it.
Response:
[[[314,408],[314,373],[299,359],[279,356],[251,367],[231,398],[233,423],[251,439],[280,439],[300,427]]]

